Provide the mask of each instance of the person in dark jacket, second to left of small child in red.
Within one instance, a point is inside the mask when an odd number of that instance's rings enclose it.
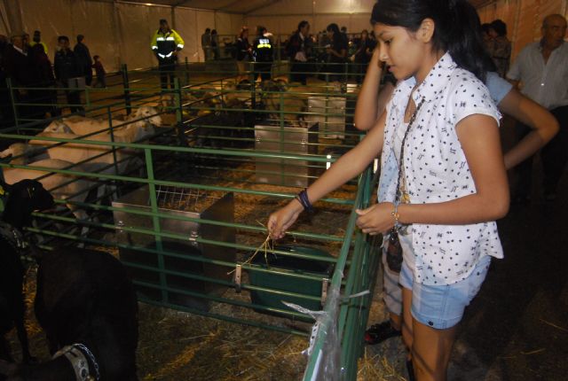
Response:
[[[74,51],[69,47],[69,37],[67,35],[59,35],[59,50],[55,53],[53,59],[53,71],[55,79],[61,88],[65,89],[67,104],[71,113],[83,112],[81,105],[81,93],[77,89],[71,89],[69,80],[83,75],[83,67],[79,66]],[[58,112],[59,113],[59,112]]]

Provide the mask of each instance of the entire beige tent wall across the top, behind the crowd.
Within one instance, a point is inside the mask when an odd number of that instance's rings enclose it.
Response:
[[[226,4],[236,4],[227,3]],[[248,4],[251,5],[252,3]],[[155,65],[150,39],[159,19],[169,19],[185,40],[181,53],[190,61],[202,61],[201,34],[206,27],[223,35],[236,35],[242,25],[252,30],[264,25],[273,34],[288,35],[302,19],[312,24],[312,33],[331,22],[358,33],[370,28],[370,12],[375,0],[279,0],[256,1],[256,9],[246,15],[170,6],[147,6],[103,0],[0,0],[0,34],[11,29],[39,29],[53,58],[58,35],[83,34],[91,49],[103,59],[107,70],[122,63],[130,68]],[[253,5],[255,5],[253,4]],[[250,6],[249,6],[250,8]],[[227,8],[229,9],[229,8]],[[230,9],[234,11],[233,8]],[[568,15],[568,0],[497,0],[478,9],[482,22],[503,19],[513,42],[513,59],[527,44],[540,38],[542,19],[550,13]]]

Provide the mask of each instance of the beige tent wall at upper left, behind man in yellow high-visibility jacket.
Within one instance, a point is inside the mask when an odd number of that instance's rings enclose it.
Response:
[[[159,19],[170,20],[170,27],[174,27],[185,40],[181,62],[185,57],[189,61],[203,60],[201,34],[206,27],[217,28],[219,35],[236,35],[244,25],[241,14],[181,7],[92,0],[50,0],[49,3],[48,10],[43,0],[0,2],[0,11],[3,7],[11,7],[8,14],[11,17],[5,17],[6,13],[2,12],[4,21],[0,19],[0,34],[8,35],[8,29],[17,24],[18,19],[30,35],[36,29],[41,30],[51,61],[58,35],[67,35],[71,46],[75,45],[76,35],[85,35],[91,55],[99,55],[107,71],[117,70],[122,63],[128,64],[131,69],[155,66],[150,40]]]

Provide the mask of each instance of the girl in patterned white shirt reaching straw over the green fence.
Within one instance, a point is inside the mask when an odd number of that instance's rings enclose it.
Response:
[[[300,199],[271,214],[283,237],[304,206],[362,172],[378,154],[378,203],[357,224],[398,227],[404,261],[403,339],[419,380],[444,380],[457,323],[492,257],[495,220],[509,210],[497,111],[483,82],[483,44],[461,12],[466,0],[379,0],[372,21],[379,58],[398,85],[367,136]],[[399,170],[400,168],[400,170]],[[401,203],[399,200],[405,200]]]

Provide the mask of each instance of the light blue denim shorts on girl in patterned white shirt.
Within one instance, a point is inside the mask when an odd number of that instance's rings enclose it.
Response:
[[[412,315],[418,322],[438,330],[460,323],[465,307],[477,295],[485,280],[491,257],[485,256],[471,274],[455,284],[426,285],[413,281],[414,266],[405,260],[398,281],[412,290]]]

